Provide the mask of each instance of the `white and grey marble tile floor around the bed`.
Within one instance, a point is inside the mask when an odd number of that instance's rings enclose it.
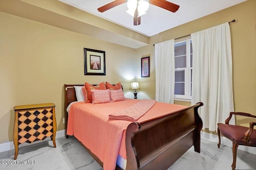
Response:
[[[14,162],[14,149],[0,152],[0,170],[102,170],[74,137],[57,138],[56,146],[48,140],[20,147],[15,164],[3,164]],[[231,170],[231,164],[231,147],[218,149],[217,143],[202,139],[201,153],[190,148],[168,170]],[[256,170],[256,155],[238,150],[236,170]]]

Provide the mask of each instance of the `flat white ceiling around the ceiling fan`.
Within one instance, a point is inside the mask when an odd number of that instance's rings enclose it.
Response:
[[[97,9],[114,0],[59,1],[150,37],[246,0],[168,0],[180,6],[175,13],[150,4],[147,14],[141,16],[141,24],[136,26],[133,17],[126,13],[126,3],[101,13]]]

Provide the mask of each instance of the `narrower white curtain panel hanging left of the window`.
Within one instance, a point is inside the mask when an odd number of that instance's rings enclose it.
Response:
[[[155,45],[156,101],[174,103],[174,39]]]

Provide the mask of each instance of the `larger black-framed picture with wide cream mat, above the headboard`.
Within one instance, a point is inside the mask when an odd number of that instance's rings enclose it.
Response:
[[[106,76],[105,51],[84,48],[84,75]]]

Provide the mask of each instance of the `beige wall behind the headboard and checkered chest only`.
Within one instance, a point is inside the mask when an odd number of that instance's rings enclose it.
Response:
[[[12,141],[13,107],[54,103],[64,129],[64,84],[121,81],[126,97],[140,74],[135,49],[0,12],[0,143]],[[84,76],[83,48],[106,52],[106,76]]]

